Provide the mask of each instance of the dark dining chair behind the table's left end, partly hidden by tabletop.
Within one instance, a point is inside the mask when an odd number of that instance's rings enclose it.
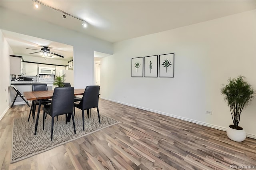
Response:
[[[32,84],[32,91],[47,91],[47,84],[44,83],[36,83],[36,84]],[[49,99],[43,99],[41,102],[41,105],[47,105],[51,103],[51,101]],[[28,116],[28,122],[29,122],[29,118],[32,112],[32,116],[35,122],[35,112],[36,112],[36,105],[39,105],[39,101],[38,100],[33,100],[32,101],[32,105],[30,108],[30,112],[29,112],[29,116]]]

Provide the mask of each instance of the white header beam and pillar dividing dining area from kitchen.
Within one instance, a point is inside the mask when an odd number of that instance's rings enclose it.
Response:
[[[1,7],[1,29],[73,45],[74,87],[94,84],[94,51],[112,53],[112,43]]]

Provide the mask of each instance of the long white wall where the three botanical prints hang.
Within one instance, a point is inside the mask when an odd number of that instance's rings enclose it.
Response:
[[[253,10],[114,43],[101,60],[101,98],[225,130],[222,84],[244,75],[256,90],[255,20]],[[131,77],[131,58],[166,53],[175,53],[174,78]],[[256,137],[256,99],[240,126]]]

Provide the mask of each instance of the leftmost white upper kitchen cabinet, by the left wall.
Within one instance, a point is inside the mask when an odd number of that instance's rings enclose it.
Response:
[[[20,56],[10,56],[10,74],[23,75],[23,62]]]

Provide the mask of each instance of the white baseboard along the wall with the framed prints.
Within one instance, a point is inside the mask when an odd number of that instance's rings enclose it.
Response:
[[[196,123],[198,125],[203,125],[203,126],[206,126],[206,127],[215,128],[215,129],[222,130],[222,131],[227,131],[226,127],[220,127],[220,126],[217,126],[217,125],[212,125],[212,124],[209,124],[209,123],[205,123],[205,122],[201,122],[201,121],[196,121],[196,120],[188,119],[188,118],[185,118],[185,117],[180,117],[180,116],[177,116],[177,115],[167,114],[167,113],[164,113],[164,112],[155,111],[155,110],[152,110],[152,109],[148,109],[148,108],[144,108],[144,107],[140,107],[140,106],[136,106],[136,105],[131,105],[131,104],[123,103],[123,102],[120,102],[120,101],[115,101],[115,100],[106,99],[106,98],[102,98],[102,97],[101,97],[101,99],[104,99],[104,100],[107,100],[107,101],[112,101],[112,102],[115,102],[115,103],[120,103],[122,105],[127,105],[127,106],[131,106],[131,107],[135,107],[135,108],[142,109],[142,110],[145,110],[145,111],[150,111],[150,112],[158,113],[158,114],[169,116],[169,117],[174,117],[174,118],[177,118],[177,119],[180,119],[180,120],[188,121],[188,122],[191,122],[191,123]],[[254,135],[254,134],[246,133],[246,136],[249,137],[249,138],[256,139],[256,135]]]

